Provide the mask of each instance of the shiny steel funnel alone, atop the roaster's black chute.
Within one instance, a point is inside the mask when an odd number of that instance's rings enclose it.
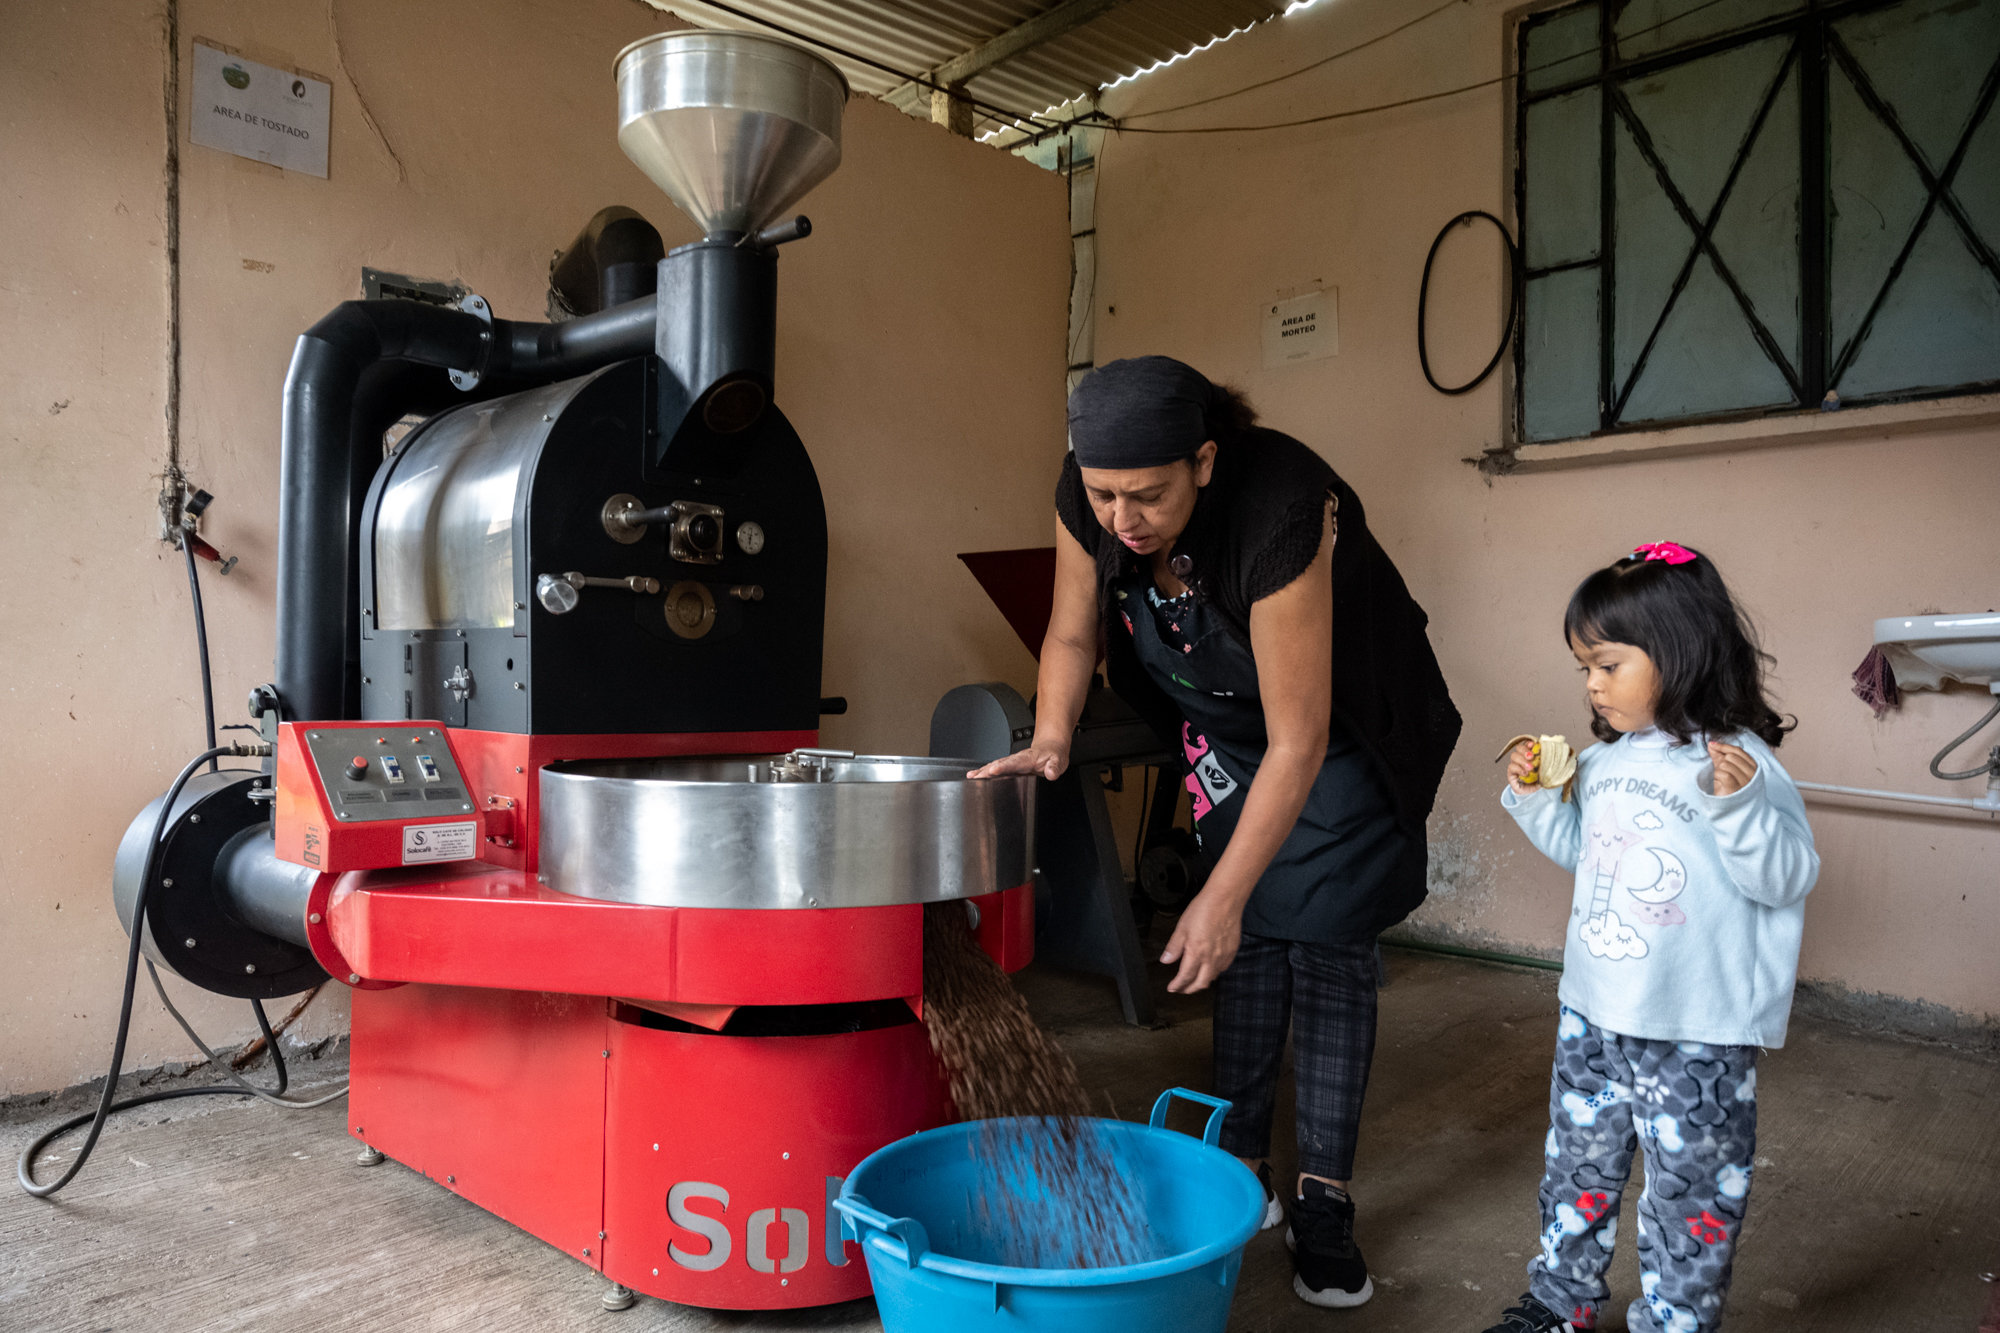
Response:
[[[840,166],[848,80],[750,32],[662,32],[618,54],[618,146],[702,232],[756,232]]]

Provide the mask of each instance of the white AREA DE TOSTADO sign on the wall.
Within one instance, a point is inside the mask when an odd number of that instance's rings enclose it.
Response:
[[[194,44],[188,138],[206,148],[326,178],[332,84]]]

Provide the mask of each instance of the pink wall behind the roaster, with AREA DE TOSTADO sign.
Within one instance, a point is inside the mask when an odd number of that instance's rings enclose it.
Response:
[[[338,28],[334,26],[338,16]],[[604,204],[692,240],[614,140],[612,56],[672,20],[628,0],[182,0],[192,38],[330,78],[332,178],[182,132],[182,456],[218,498],[206,574],[218,721],[272,671],[278,406],[292,340],[364,264],[460,278],[540,318],[548,256]],[[0,1095],[102,1071],[126,823],[200,749],[166,466],[164,28],[140,0],[0,10]],[[186,82],[182,114],[186,116]],[[372,116],[374,126],[368,120]],[[1032,683],[958,550],[1048,540],[1062,456],[1062,182],[878,102],[782,262],[778,396],[832,526],[830,745],[922,751],[952,685]],[[968,484],[978,476],[978,484]],[[178,987],[186,993],[184,987]],[[142,999],[130,1065],[186,1059]],[[252,1029],[196,997],[212,1041]],[[338,987],[306,1031],[346,1025]]]

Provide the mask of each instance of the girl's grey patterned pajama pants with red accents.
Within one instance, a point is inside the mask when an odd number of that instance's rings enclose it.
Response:
[[[1618,1201],[1644,1147],[1638,1199],[1642,1297],[1634,1333],[1708,1333],[1750,1201],[1756,1155],[1756,1047],[1650,1041],[1562,1009],[1548,1087],[1542,1245],[1528,1291],[1578,1327],[1596,1327]]]

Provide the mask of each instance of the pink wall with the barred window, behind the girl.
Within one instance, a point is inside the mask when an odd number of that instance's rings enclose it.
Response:
[[[1498,0],[1450,6],[1410,32],[1300,78],[1196,110],[1148,108],[1302,68],[1420,12],[1402,0],[1322,0],[1114,90],[1134,126],[1270,122],[1494,78],[1508,50]],[[1800,779],[1910,793],[1984,693],[1914,695],[1876,723],[1848,693],[1876,616],[1988,608],[2000,512],[2000,432],[1974,424],[1860,438],[1736,444],[1704,456],[1484,476],[1508,386],[1430,390],[1416,358],[1424,252],[1466,208],[1510,214],[1508,92],[1260,134],[1110,136],[1098,182],[1098,362],[1166,352],[1246,388],[1356,484],[1370,522],[1430,610],[1432,642],[1466,715],[1432,819],[1432,901],[1414,927],[1550,955],[1568,877],[1498,809],[1488,763],[1522,731],[1588,737],[1562,606],[1590,568],[1672,536],[1720,564],[1776,654],[1782,751]],[[1468,234],[1472,236],[1472,234]],[[1490,228],[1448,242],[1432,288],[1432,356],[1446,382],[1490,354],[1500,322]],[[1340,290],[1340,354],[1264,370],[1262,304]],[[1852,418],[1850,418],[1852,420]],[[1990,741],[1992,737],[1988,737]],[[2000,825],[1910,809],[1812,805],[1824,873],[1806,913],[1802,975],[2000,1015]]]

